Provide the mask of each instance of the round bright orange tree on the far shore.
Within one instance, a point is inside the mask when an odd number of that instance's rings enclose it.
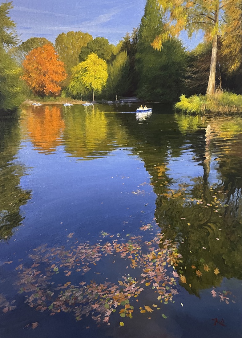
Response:
[[[32,92],[39,96],[57,96],[60,94],[61,81],[65,80],[64,63],[50,44],[33,49],[23,61],[24,75]]]

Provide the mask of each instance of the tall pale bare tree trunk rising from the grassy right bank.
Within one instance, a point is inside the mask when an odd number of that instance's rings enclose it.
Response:
[[[219,1],[215,11],[215,26],[218,25],[219,20]],[[217,42],[218,42],[218,32],[215,33],[212,44],[212,56],[210,64],[210,73],[207,84],[207,95],[212,95],[215,92],[215,79],[216,79],[216,63],[217,63]]]

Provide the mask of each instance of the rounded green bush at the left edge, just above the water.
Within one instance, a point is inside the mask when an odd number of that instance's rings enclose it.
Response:
[[[0,46],[0,111],[16,110],[24,96],[20,81],[21,69],[10,55]]]

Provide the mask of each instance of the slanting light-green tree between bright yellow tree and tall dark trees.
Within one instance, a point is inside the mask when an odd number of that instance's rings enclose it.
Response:
[[[129,88],[129,58],[127,52],[120,52],[112,65],[108,65],[108,80],[105,92],[116,100]]]

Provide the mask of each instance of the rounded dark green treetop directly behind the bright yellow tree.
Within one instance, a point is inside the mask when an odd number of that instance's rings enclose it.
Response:
[[[110,61],[115,46],[109,44],[109,41],[105,38],[95,38],[87,43],[86,47],[81,49],[79,54],[79,62],[86,60],[87,56],[91,53],[95,53],[98,57],[102,58],[106,62]]]

